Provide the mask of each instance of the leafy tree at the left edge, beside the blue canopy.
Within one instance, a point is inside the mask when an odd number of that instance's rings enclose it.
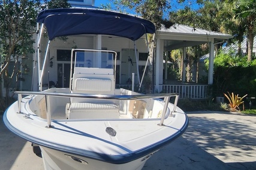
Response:
[[[4,0],[0,1],[0,104],[9,103],[9,91],[12,79],[19,81],[19,61],[34,52],[32,47],[36,32],[38,13],[46,8],[68,6],[67,1],[40,0]],[[14,64],[13,64],[14,63]],[[6,88],[5,100],[2,95],[2,83]],[[5,101],[5,103],[4,103]]]

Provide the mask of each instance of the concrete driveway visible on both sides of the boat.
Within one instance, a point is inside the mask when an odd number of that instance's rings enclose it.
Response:
[[[256,169],[256,116],[229,112],[188,112],[182,137],[165,146],[143,170]],[[43,169],[43,160],[0,121],[0,169]]]

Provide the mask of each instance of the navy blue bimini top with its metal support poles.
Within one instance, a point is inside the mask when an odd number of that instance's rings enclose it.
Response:
[[[40,91],[42,90],[43,72],[46,66],[50,41],[54,38],[68,35],[113,35],[128,38],[135,42],[144,34],[155,33],[155,25],[150,21],[114,11],[99,10],[97,8],[44,10],[38,14],[37,22],[38,27],[39,23],[41,23],[37,51],[35,52],[38,61],[38,85]],[[44,27],[47,29],[49,42],[44,57],[43,68],[41,69],[40,41]],[[140,82],[139,77],[138,82]]]

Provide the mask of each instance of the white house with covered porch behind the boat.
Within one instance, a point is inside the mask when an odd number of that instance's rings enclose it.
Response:
[[[81,7],[82,5],[94,5],[93,0],[73,0],[70,3],[75,7]],[[233,38],[231,35],[211,32],[203,29],[195,29],[193,27],[185,26],[182,24],[174,24],[170,28],[166,29],[162,27],[161,30],[156,32],[156,50],[154,58],[154,83],[155,91],[165,92],[179,92],[180,98],[206,98],[207,97],[207,85],[166,85],[163,84],[164,79],[164,52],[171,51],[178,48],[183,48],[194,45],[210,44],[210,69],[208,73],[208,84],[213,82],[213,52],[214,45],[218,42],[222,42],[225,39]],[[37,37],[35,37],[37,39]],[[136,42],[130,39],[119,38],[116,36],[106,35],[79,35],[69,36],[68,39],[55,38],[50,42],[50,51],[46,54],[46,51],[41,51],[41,55],[47,55],[49,57],[47,64],[47,74],[43,75],[43,88],[55,85],[58,87],[67,87],[69,85],[70,78],[70,54],[73,47],[76,48],[97,48],[103,50],[115,50],[118,52],[118,60],[116,67],[116,85],[129,86],[132,73],[135,75],[135,84],[138,84],[141,79],[141,75],[147,60],[147,45],[145,44],[146,37],[138,39]],[[47,38],[41,40],[40,50],[46,49],[46,45],[49,43]],[[137,51],[134,51],[134,45],[137,47]],[[36,48],[36,47],[35,47]],[[135,55],[136,54],[136,55]],[[137,58],[136,58],[137,56]],[[21,78],[25,81],[20,81],[21,90],[33,90],[38,91],[39,87],[36,83],[38,79],[38,73],[32,74],[32,70],[37,67],[37,64],[41,65],[40,60],[35,56],[29,55],[28,59],[23,58],[22,63],[26,63],[30,72],[26,72],[25,67],[22,67]],[[183,59],[185,58],[185,53]],[[34,61],[34,62],[33,62]],[[138,67],[137,67],[138,66]],[[165,69],[166,70],[166,69]],[[32,84],[31,84],[32,82]]]

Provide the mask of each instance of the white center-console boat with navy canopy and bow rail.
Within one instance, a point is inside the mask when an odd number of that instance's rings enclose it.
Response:
[[[96,8],[44,10],[38,14],[40,41],[69,35],[111,35],[136,41],[155,26],[143,18]],[[49,50],[50,45],[47,45]],[[73,49],[68,88],[16,91],[4,113],[10,131],[40,147],[44,169],[142,169],[162,147],[185,132],[188,116],[177,107],[179,94],[142,94],[115,88],[112,50]],[[43,65],[43,66],[41,66]],[[170,103],[170,101],[173,101]]]

